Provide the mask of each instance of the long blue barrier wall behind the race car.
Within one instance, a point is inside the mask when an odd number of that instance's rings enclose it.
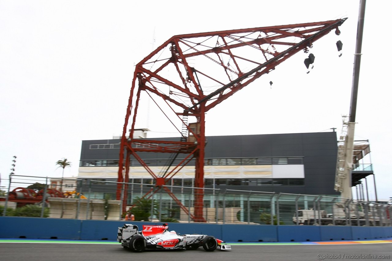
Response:
[[[0,238],[116,240],[117,228],[129,221],[0,217]],[[133,221],[142,225],[162,223]],[[207,234],[227,242],[325,241],[392,238],[392,227],[272,226],[169,223],[180,234]]]

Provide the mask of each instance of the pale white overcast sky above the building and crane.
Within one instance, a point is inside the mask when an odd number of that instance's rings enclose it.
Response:
[[[206,116],[207,136],[340,132],[350,107],[358,7],[342,0],[0,0],[1,186],[14,155],[15,174],[61,177],[55,163],[65,157],[73,163],[65,176],[77,176],[82,140],[121,134],[134,64],[175,34],[348,17],[340,36],[332,32],[314,43],[309,74],[307,54],[298,53]],[[355,139],[370,141],[379,198],[392,197],[391,8],[391,1],[367,2],[356,115]],[[154,131],[149,137],[171,136],[151,114],[140,127]]]

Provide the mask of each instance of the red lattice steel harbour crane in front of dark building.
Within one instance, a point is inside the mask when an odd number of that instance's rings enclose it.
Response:
[[[140,61],[134,71],[121,138],[116,198],[124,200],[123,210],[132,156],[155,180],[144,197],[163,189],[193,221],[205,222],[205,113],[299,51],[307,53],[316,40],[330,31],[335,29],[340,34],[338,27],[346,19],[176,35]],[[313,60],[305,59],[305,65],[309,67]],[[133,138],[141,97],[154,101],[181,138],[173,141]],[[174,158],[183,154],[184,157],[178,165],[165,166],[164,174],[158,174],[149,168],[139,152],[172,153]],[[195,162],[194,213],[189,213],[166,186],[192,159]]]

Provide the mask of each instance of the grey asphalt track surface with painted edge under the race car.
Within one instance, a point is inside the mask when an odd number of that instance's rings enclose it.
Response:
[[[31,243],[30,243],[31,242]],[[40,242],[40,243],[36,243]],[[315,261],[392,260],[392,240],[231,243],[232,250],[147,250],[133,253],[113,241],[0,239],[1,260],[216,260]],[[348,256],[345,256],[348,255]],[[371,255],[371,256],[370,256]],[[382,257],[382,255],[387,257]],[[374,257],[379,256],[379,257]]]

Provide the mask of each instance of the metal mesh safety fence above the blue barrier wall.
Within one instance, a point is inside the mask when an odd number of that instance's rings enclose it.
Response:
[[[3,216],[193,222],[194,187],[12,175]],[[131,217],[131,212],[132,217]],[[392,206],[329,196],[203,189],[207,223],[392,226]]]

